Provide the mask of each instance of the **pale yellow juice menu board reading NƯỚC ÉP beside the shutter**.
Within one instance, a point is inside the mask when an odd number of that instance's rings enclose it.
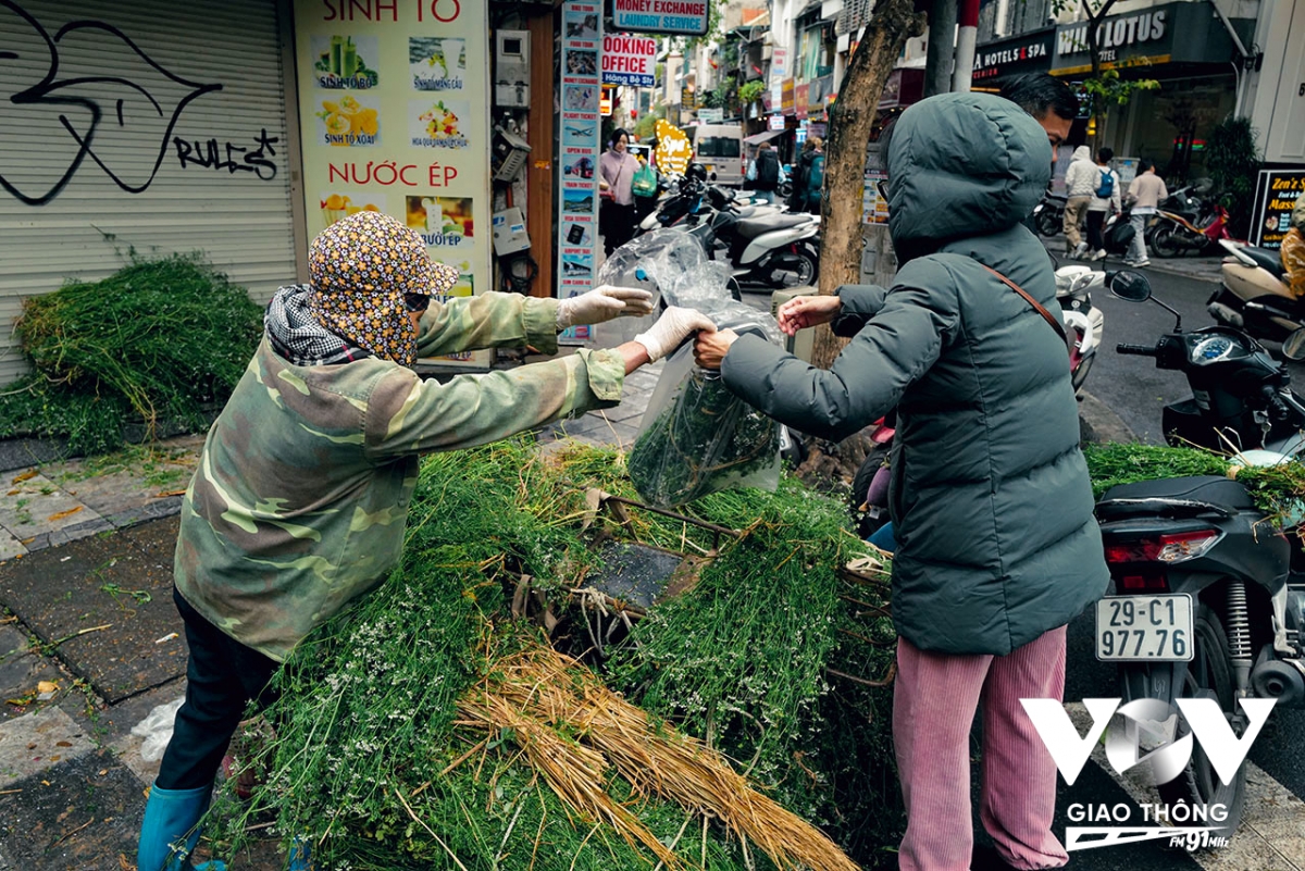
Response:
[[[450,296],[488,289],[488,0],[296,0],[295,34],[308,236],[382,211],[461,270]]]

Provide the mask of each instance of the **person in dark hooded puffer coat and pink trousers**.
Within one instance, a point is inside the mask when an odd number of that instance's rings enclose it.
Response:
[[[846,286],[779,312],[790,334],[833,322],[852,336],[829,370],[728,330],[699,335],[696,353],[735,394],[823,438],[898,409],[900,867],[970,867],[980,700],[984,827],[1011,867],[1058,867],[1056,765],[1019,699],[1061,698],[1065,625],[1104,593],[1108,572],[1065,342],[998,276],[1056,308],[1047,253],[1019,223],[1047,186],[1047,133],[997,96],[945,94],[902,113],[887,168],[895,284]]]

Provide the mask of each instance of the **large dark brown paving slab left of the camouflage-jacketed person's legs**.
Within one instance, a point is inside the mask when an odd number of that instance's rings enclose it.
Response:
[[[42,642],[65,639],[57,657],[108,701],[185,669],[184,638],[159,642],[180,632],[181,622],[172,604],[171,549],[142,544],[151,535],[175,541],[175,520],[155,523],[171,531],[84,539],[0,566],[0,600]],[[97,626],[108,628],[76,635]]]

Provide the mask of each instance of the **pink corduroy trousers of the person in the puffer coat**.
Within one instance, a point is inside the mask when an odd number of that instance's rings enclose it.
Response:
[[[928,653],[898,639],[893,742],[907,811],[902,871],[970,867],[970,726],[980,700],[984,828],[1017,868],[1069,862],[1051,831],[1056,763],[1019,704],[1064,692],[1064,626],[1009,656]]]

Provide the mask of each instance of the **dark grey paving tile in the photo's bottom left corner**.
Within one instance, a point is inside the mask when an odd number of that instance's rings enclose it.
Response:
[[[60,761],[10,784],[7,791],[0,795],[0,850],[16,868],[133,867],[144,788],[112,752]]]

